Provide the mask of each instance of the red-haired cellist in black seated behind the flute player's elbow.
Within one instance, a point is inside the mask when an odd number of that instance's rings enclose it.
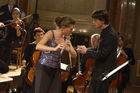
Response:
[[[22,58],[22,72],[25,70],[28,72],[28,70],[32,67],[31,57],[35,51],[36,44],[42,39],[44,33],[44,30],[40,27],[34,29],[33,36],[35,41],[29,43],[25,48],[24,56]],[[21,73],[17,93],[20,93],[21,91],[23,93],[32,93],[31,87],[25,81],[24,73]]]

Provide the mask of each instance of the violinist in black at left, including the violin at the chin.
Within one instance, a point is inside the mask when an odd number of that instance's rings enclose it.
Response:
[[[20,47],[24,36],[24,22],[20,20],[21,12],[18,8],[12,11],[13,20],[5,22],[5,34],[0,39],[0,47],[4,47],[4,53],[1,53],[1,58],[8,65],[10,64],[10,53],[12,48]],[[0,48],[0,50],[2,50]]]

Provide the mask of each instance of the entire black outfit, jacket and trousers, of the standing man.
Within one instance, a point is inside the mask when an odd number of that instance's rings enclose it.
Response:
[[[118,38],[111,25],[102,30],[97,50],[89,48],[86,56],[94,58],[93,75],[88,93],[108,93],[109,85],[115,76],[101,81],[102,75],[116,68]]]

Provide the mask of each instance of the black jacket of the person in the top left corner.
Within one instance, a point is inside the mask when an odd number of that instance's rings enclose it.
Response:
[[[16,5],[13,6],[13,9],[17,7]],[[0,21],[1,22],[5,22],[7,20],[12,20],[12,14],[11,12],[9,11],[9,8],[8,8],[8,4],[6,5],[3,5],[0,7],[0,12],[3,12],[2,15],[0,15]]]

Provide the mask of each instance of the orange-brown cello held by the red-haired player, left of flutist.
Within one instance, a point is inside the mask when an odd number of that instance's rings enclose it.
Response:
[[[32,83],[33,83],[34,72],[35,72],[36,65],[37,65],[37,62],[38,62],[39,58],[40,58],[40,51],[35,51],[33,53],[33,56],[31,57],[33,67],[30,68],[30,70],[27,74],[27,77],[25,79],[27,84],[30,85],[30,86],[32,86]]]

